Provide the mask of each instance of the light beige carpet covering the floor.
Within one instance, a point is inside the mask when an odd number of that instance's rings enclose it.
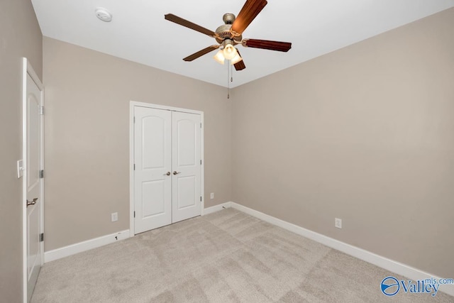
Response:
[[[32,302],[454,302],[386,297],[397,275],[235,209],[46,263]]]

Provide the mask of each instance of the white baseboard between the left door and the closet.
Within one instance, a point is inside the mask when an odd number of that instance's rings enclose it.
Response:
[[[76,253],[82,253],[82,251],[90,250],[105,246],[116,241],[124,240],[129,238],[129,229],[126,231],[118,231],[118,233],[111,233],[110,235],[101,236],[91,240],[74,243],[70,246],[49,250],[44,253],[44,263],[48,263],[53,260],[65,258],[69,255],[75,255]]]

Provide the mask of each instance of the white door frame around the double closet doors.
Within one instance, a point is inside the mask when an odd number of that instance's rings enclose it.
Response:
[[[145,102],[130,101],[129,102],[129,233],[133,237],[135,235],[134,228],[134,108],[135,106],[146,107],[149,109],[162,109],[166,111],[180,111],[188,114],[199,114],[201,121],[200,128],[200,193],[201,193],[201,204],[200,204],[200,215],[204,214],[205,205],[205,192],[204,192],[204,112],[196,111],[194,109],[182,109],[179,107],[165,106],[160,104],[150,104]]]

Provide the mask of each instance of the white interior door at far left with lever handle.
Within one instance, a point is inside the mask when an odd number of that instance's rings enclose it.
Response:
[[[40,170],[43,170],[43,87],[31,66],[27,69],[26,66],[24,60],[24,284],[27,287],[26,300],[29,302],[43,265],[43,238],[40,237],[43,233],[43,178],[40,177]]]

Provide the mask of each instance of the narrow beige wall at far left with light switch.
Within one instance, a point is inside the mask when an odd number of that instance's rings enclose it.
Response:
[[[42,40],[30,0],[0,1],[0,301],[22,298],[22,57],[42,75]]]

